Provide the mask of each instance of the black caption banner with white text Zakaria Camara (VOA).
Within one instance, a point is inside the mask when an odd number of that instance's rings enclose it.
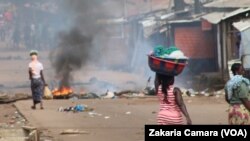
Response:
[[[145,141],[185,138],[250,141],[250,126],[238,125],[145,125]]]

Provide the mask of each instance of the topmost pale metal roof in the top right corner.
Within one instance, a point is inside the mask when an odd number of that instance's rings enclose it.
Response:
[[[211,8],[250,7],[250,0],[217,0],[217,1],[205,4],[204,7],[211,7]]]

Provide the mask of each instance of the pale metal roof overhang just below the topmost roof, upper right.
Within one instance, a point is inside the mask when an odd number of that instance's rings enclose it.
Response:
[[[228,13],[227,12],[212,12],[212,13],[202,16],[202,19],[205,19],[212,24],[218,24],[222,20],[226,20],[228,18],[231,18],[233,16],[236,16],[238,14],[248,12],[248,11],[250,11],[250,8],[240,8],[233,12],[228,12]]]

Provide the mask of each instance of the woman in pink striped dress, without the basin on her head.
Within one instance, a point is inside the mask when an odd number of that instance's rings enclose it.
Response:
[[[160,111],[157,115],[159,125],[184,124],[183,116],[186,117],[187,124],[192,121],[187,112],[182,94],[179,88],[174,88],[174,76],[156,74],[155,89],[160,101]]]

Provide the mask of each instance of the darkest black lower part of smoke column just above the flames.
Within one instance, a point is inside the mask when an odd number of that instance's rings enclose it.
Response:
[[[70,86],[72,73],[81,69],[89,57],[93,37],[83,35],[72,29],[69,33],[61,33],[58,48],[51,54],[51,62],[60,80],[60,87]]]

